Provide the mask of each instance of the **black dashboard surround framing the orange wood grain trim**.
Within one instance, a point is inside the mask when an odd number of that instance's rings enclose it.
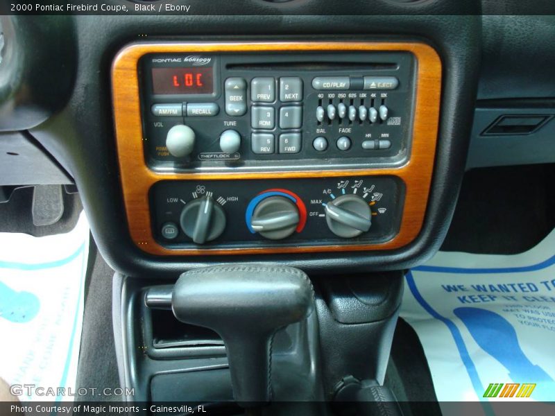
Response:
[[[464,2],[464,8],[472,2]],[[453,3],[454,11],[456,5]],[[418,263],[438,248],[447,229],[465,166],[469,120],[479,68],[480,18],[478,16],[151,16],[119,19],[113,16],[73,17],[77,42],[83,53],[76,88],[69,105],[33,129],[33,135],[63,161],[76,177],[89,214],[99,250],[110,265],[130,275],[169,275],[206,263],[190,257],[160,259],[140,252],[130,241],[121,202],[114,153],[110,107],[110,62],[117,50],[150,33],[151,40],[164,36],[180,40],[426,40],[441,55],[443,95],[436,171],[425,226],[407,248],[384,253],[357,252],[257,257],[259,261],[287,261],[309,272],[336,270],[398,269]],[[186,28],[186,29],[185,29]],[[395,28],[392,31],[392,28]],[[347,33],[357,34],[347,35]],[[217,37],[214,35],[217,34]],[[74,123],[78,119],[79,123]],[[221,261],[213,257],[211,261]],[[226,258],[229,261],[229,258]],[[233,261],[241,261],[241,256]]]

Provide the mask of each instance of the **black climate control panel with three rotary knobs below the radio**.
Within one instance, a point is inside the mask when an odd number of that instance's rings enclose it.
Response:
[[[168,248],[352,245],[400,227],[397,177],[163,181],[151,189],[153,235]]]

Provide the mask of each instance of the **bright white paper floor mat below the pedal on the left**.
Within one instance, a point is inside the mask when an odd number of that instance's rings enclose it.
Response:
[[[74,388],[89,252],[85,214],[67,234],[0,233],[0,248],[0,377],[43,394]],[[21,401],[72,399],[23,390]]]

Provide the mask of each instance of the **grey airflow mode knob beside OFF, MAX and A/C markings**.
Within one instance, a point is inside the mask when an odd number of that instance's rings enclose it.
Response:
[[[325,220],[336,236],[352,239],[367,232],[372,225],[372,211],[361,197],[342,195],[325,206]]]

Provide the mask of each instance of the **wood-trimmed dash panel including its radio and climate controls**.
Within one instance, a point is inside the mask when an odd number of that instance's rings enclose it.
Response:
[[[132,44],[112,89],[145,252],[384,250],[422,227],[441,89],[426,44]]]

